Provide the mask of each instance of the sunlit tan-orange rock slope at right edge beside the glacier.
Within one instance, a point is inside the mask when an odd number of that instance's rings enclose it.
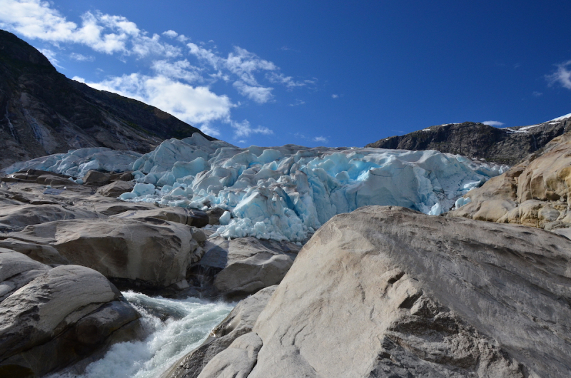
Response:
[[[571,226],[571,133],[553,139],[464,198],[447,216],[516,223],[546,230]],[[459,203],[460,205],[460,203]]]

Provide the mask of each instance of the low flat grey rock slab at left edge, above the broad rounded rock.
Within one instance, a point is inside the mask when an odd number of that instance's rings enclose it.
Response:
[[[96,219],[103,215],[66,205],[3,205],[0,207],[0,232],[19,231],[27,225],[53,220]]]

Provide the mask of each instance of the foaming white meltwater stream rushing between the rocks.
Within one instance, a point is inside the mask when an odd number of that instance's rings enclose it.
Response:
[[[114,344],[102,359],[89,364],[82,375],[55,374],[49,378],[159,377],[198,347],[234,307],[198,298],[171,300],[138,292],[123,292],[123,295],[143,315],[143,327],[150,332],[148,337]]]

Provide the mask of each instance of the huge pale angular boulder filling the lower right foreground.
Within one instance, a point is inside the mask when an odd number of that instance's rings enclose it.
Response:
[[[569,240],[536,228],[337,215],[200,377],[568,377],[570,264]]]

